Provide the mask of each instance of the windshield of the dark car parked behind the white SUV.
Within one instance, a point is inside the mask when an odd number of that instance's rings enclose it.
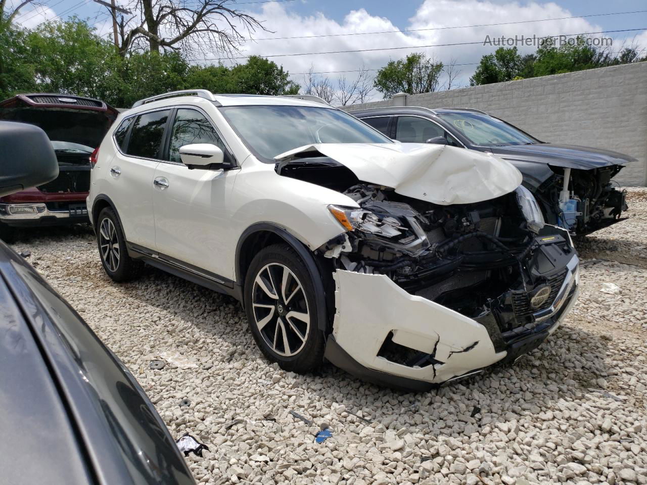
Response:
[[[460,131],[474,145],[494,147],[539,143],[536,138],[487,114],[439,113],[438,116]]]

